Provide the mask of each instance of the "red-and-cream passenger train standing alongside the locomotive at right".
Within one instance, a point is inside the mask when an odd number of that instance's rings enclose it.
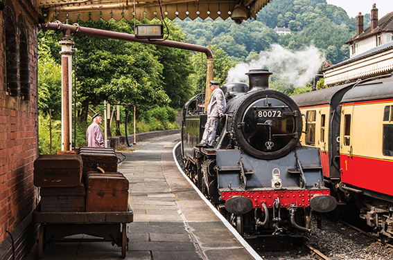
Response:
[[[339,204],[393,240],[393,74],[293,95],[307,115],[302,145],[320,148]],[[351,210],[353,212],[353,210]]]

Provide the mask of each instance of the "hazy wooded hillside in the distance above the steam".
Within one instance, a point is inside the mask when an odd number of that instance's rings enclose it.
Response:
[[[196,44],[211,41],[237,62],[244,62],[250,53],[269,50],[271,44],[278,43],[290,50],[314,45],[325,53],[328,62],[337,64],[349,58],[349,47],[344,42],[356,33],[356,18],[348,17],[342,8],[326,0],[270,1],[256,20],[241,25],[231,19],[185,19],[176,23],[182,26],[189,41]],[[364,24],[365,28],[369,26],[369,14],[364,16]],[[273,30],[276,26],[290,28],[291,35],[277,35]]]

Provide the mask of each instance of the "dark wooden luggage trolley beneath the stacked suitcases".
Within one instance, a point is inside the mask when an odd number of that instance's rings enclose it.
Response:
[[[46,245],[54,242],[105,242],[112,241],[121,247],[121,257],[128,250],[127,223],[134,214],[128,212],[40,212],[39,204],[33,212],[33,223],[40,223],[38,257],[42,259]],[[65,238],[75,234],[89,234],[96,239]],[[98,237],[101,237],[98,238]]]

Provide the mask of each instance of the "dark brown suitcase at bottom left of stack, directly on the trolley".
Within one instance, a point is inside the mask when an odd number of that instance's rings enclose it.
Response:
[[[86,188],[41,187],[41,212],[85,212]]]

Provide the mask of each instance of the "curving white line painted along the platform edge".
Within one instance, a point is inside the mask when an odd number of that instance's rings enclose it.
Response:
[[[195,189],[196,192],[198,192],[199,196],[202,198],[202,200],[204,201],[204,203],[206,203],[211,210],[213,210],[214,214],[216,214],[216,216],[218,216],[218,219],[220,219],[220,221],[222,221],[222,223],[224,223],[225,227],[227,227],[227,229],[232,232],[232,234],[234,234],[234,236],[236,237],[236,239],[238,239],[238,241],[243,245],[243,247],[245,248],[245,250],[247,250],[247,252],[249,252],[252,257],[254,257],[254,259],[257,260],[263,260],[262,257],[259,256],[259,254],[257,254],[254,250],[254,248],[252,248],[244,239],[243,237],[235,230],[235,228],[227,221],[227,219],[225,219],[224,216],[222,216],[222,214],[220,212],[218,212],[218,210],[216,209],[216,207],[213,207],[213,205],[210,203],[210,201],[207,200],[207,198],[202,194],[202,192],[200,192],[200,190],[198,189],[198,187],[195,187],[195,185],[193,184],[193,182],[190,180],[189,177],[186,176],[186,174],[184,174],[184,171],[182,170],[182,167],[180,167],[179,163],[177,163],[177,158],[176,158],[176,154],[175,154],[175,150],[176,148],[180,145],[181,142],[178,142],[175,147],[172,150],[172,154],[173,154],[173,159],[175,160],[175,163],[177,165],[177,168],[179,169],[179,171],[183,174],[184,178],[186,178],[186,180],[189,181],[189,183],[193,186],[193,188]]]

